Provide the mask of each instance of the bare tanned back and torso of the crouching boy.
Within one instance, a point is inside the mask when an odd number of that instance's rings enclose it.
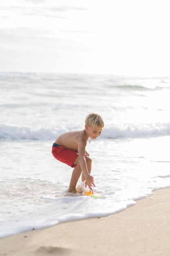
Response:
[[[76,151],[78,150],[78,141],[80,138],[86,141],[84,130],[63,133],[56,139],[55,143]]]

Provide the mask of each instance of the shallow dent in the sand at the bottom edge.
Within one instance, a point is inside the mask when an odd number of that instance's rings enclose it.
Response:
[[[35,255],[37,256],[46,256],[46,255],[53,255],[53,256],[57,256],[57,255],[64,255],[67,256],[69,255],[69,252],[71,250],[70,249],[66,249],[66,248],[61,248],[61,247],[54,247],[54,246],[40,246],[36,251],[35,251]]]

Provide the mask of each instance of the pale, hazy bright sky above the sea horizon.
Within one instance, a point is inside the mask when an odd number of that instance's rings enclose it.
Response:
[[[170,76],[168,0],[0,0],[0,72]]]

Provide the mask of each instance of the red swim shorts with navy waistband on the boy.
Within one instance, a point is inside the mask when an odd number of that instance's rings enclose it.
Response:
[[[76,151],[69,148],[65,148],[56,143],[54,143],[52,146],[52,154],[53,157],[55,157],[55,159],[64,164],[68,164],[72,168],[75,168],[76,164],[74,164],[74,162],[75,159],[79,156],[79,154]]]

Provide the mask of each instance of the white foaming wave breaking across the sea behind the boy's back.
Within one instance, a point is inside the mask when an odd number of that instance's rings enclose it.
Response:
[[[75,127],[60,128],[56,130],[46,128],[29,128],[0,125],[1,140],[55,140],[60,134]],[[124,126],[110,126],[104,128],[102,139],[145,138],[170,136],[170,123],[157,124],[126,124]]]

